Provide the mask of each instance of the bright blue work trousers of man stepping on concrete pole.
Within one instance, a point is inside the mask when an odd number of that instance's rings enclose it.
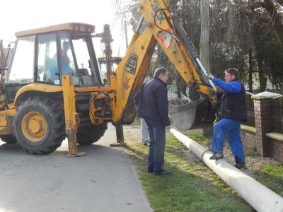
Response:
[[[238,119],[223,118],[214,124],[212,136],[212,151],[214,153],[223,153],[224,136],[226,134],[236,163],[245,163],[241,141],[241,123],[242,121]]]

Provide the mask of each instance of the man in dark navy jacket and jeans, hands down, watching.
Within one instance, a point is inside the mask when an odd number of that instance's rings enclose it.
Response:
[[[144,118],[149,129],[149,165],[147,172],[155,175],[168,175],[163,170],[166,129],[170,129],[167,98],[168,71],[158,68],[154,78],[144,83],[134,97],[137,116]]]

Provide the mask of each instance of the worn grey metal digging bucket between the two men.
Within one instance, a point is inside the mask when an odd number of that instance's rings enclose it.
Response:
[[[173,124],[182,131],[206,128],[214,122],[212,105],[205,100],[191,101],[184,105],[174,105],[169,102],[169,114]]]

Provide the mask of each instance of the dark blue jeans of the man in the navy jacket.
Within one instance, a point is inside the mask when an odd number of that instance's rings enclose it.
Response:
[[[161,122],[145,119],[149,129],[149,166],[147,170],[155,173],[161,172],[164,164],[165,126]]]

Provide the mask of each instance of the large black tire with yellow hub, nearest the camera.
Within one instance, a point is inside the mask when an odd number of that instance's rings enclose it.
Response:
[[[13,129],[24,151],[35,155],[51,153],[65,139],[64,113],[50,98],[28,98],[18,107]]]

